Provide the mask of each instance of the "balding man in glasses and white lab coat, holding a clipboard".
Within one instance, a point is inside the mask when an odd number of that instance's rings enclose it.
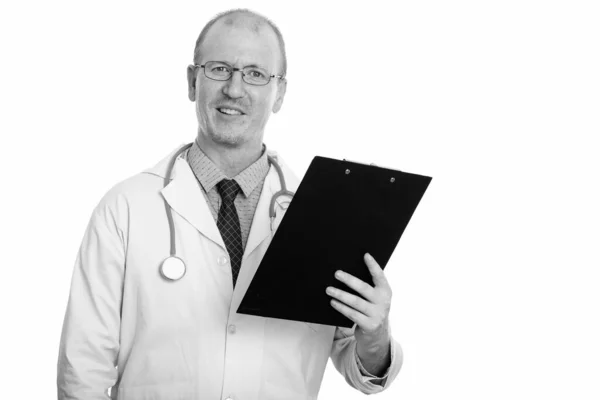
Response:
[[[376,393],[400,370],[391,289],[365,255],[371,287],[340,281],[366,299],[329,292],[356,322],[335,328],[237,314],[272,237],[269,204],[299,184],[263,145],[286,91],[279,30],[248,10],[204,28],[188,73],[198,134],[177,157],[113,187],[92,214],[71,285],[58,361],[59,399],[309,399],[329,357],[354,388]],[[185,276],[168,279],[171,210]],[[283,211],[279,208],[277,219]],[[175,278],[173,278],[175,279]],[[115,368],[116,367],[116,368]]]

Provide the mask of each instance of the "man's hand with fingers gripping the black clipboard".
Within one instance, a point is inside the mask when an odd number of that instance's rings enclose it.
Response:
[[[359,296],[355,296],[334,287],[327,288],[327,294],[334,299],[331,305],[337,311],[356,322],[357,328],[354,336],[361,347],[368,348],[371,345],[381,344],[381,341],[389,341],[388,317],[392,303],[392,288],[390,287],[383,270],[370,254],[364,256],[365,264],[373,277],[375,287],[360,279],[337,271],[336,279],[354,289]]]

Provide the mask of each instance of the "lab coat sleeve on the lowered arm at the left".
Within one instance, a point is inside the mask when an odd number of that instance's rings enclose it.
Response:
[[[73,270],[58,356],[59,400],[106,400],[117,381],[125,235],[109,198],[94,210]]]

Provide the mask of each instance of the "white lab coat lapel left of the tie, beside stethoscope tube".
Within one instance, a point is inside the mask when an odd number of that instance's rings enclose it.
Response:
[[[223,238],[202,194],[202,188],[185,160],[177,159],[171,174],[171,182],[161,190],[161,193],[175,212],[201,234],[225,249]]]

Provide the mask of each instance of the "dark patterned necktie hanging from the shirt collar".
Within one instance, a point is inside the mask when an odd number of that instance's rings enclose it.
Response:
[[[235,288],[235,282],[240,272],[240,266],[242,264],[242,256],[244,255],[244,249],[242,248],[242,231],[240,229],[240,219],[235,209],[235,196],[240,191],[240,187],[237,182],[233,179],[223,179],[217,184],[217,190],[221,195],[221,208],[219,209],[219,216],[217,218],[217,227],[225,247],[229,253],[229,259],[231,260],[231,274],[233,275],[233,287]]]

